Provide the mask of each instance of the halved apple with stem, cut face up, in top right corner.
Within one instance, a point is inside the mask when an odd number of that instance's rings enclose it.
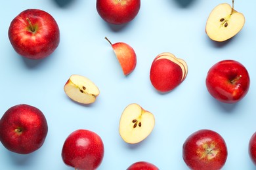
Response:
[[[223,42],[236,35],[244,27],[245,18],[227,3],[217,5],[209,14],[205,32],[213,41]]]

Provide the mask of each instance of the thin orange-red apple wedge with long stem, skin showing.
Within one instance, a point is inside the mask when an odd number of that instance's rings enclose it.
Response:
[[[119,64],[121,65],[123,74],[127,76],[131,72],[133,72],[137,64],[137,56],[135,50],[133,50],[133,48],[125,42],[116,42],[112,44],[112,42],[110,42],[110,40],[107,37],[105,37],[105,39],[111,44],[116,54],[116,58],[118,59]]]

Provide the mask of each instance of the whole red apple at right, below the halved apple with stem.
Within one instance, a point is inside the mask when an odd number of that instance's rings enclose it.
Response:
[[[234,60],[223,60],[213,65],[206,77],[208,92],[223,103],[236,103],[249,90],[249,74],[247,69]]]

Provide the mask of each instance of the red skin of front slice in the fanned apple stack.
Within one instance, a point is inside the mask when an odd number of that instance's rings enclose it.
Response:
[[[182,82],[181,67],[169,59],[154,60],[150,68],[150,81],[159,92],[169,92]]]

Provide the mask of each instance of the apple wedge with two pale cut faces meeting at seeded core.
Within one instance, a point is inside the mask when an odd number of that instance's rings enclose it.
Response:
[[[70,99],[82,103],[94,103],[100,94],[97,86],[88,78],[81,75],[72,75],[64,86],[64,91]]]

